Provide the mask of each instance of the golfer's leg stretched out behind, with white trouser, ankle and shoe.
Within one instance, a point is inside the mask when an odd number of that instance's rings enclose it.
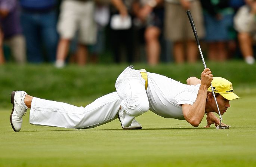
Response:
[[[88,129],[116,119],[121,101],[117,92],[112,92],[85,107],[77,107],[63,102],[32,97],[24,91],[13,91],[11,94],[13,109],[10,123],[14,131],[21,130],[22,117],[27,109],[31,108],[30,124]],[[136,124],[136,126],[138,125]],[[134,127],[134,123],[131,127]]]

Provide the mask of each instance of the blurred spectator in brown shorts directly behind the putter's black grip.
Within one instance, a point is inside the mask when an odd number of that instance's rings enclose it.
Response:
[[[204,37],[203,13],[199,0],[166,0],[165,35],[173,42],[174,59],[183,63],[185,59],[194,63],[198,58],[198,47],[186,14],[190,10],[197,28],[198,38]],[[184,46],[186,44],[186,47]]]

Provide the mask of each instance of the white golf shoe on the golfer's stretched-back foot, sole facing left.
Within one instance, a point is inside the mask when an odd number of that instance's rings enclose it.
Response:
[[[21,130],[22,117],[26,113],[28,107],[24,103],[27,95],[24,91],[13,91],[11,94],[11,103],[13,104],[10,122],[15,132]]]

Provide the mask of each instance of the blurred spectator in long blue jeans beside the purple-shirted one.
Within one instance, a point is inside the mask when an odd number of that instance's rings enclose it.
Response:
[[[20,0],[20,3],[28,61],[40,63],[46,59],[54,62],[58,42],[56,0]]]

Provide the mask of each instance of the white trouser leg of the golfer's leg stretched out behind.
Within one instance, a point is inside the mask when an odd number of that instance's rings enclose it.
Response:
[[[116,119],[121,101],[117,92],[102,96],[86,107],[33,98],[30,124],[75,129],[93,128]]]

